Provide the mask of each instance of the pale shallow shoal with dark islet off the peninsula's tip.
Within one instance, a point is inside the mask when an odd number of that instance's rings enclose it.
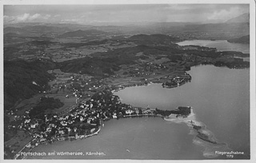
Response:
[[[201,121],[197,121],[193,108],[190,109],[190,115],[187,117],[171,114],[169,117],[165,117],[164,120],[174,123],[186,123],[190,128],[191,135],[194,135],[193,143],[200,145],[204,148],[203,156],[207,158],[219,157],[216,151],[231,151],[226,143],[219,142],[209,129],[206,129],[206,125]]]

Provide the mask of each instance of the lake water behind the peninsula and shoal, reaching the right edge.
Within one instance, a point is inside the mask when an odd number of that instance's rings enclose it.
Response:
[[[192,80],[173,89],[160,84],[130,87],[116,94],[131,105],[174,109],[190,105],[220,142],[234,151],[250,153],[249,70],[196,66],[188,73]],[[237,157],[237,158],[238,158]]]

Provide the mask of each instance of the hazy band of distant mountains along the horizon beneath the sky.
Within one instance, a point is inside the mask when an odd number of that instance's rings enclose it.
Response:
[[[86,38],[93,40],[100,38],[104,34],[108,35],[134,35],[134,34],[167,34],[172,33],[196,33],[204,32],[215,34],[223,38],[223,34],[233,33],[233,37],[241,37],[250,34],[250,14],[242,14],[238,17],[231,18],[222,23],[205,23],[201,22],[130,22],[126,26],[91,26],[81,24],[61,24],[61,23],[17,23],[8,24],[4,28],[6,42],[14,42],[11,38],[21,37],[45,37],[45,38]],[[12,34],[8,34],[12,33]],[[224,39],[231,38],[228,35]],[[150,38],[151,39],[151,38]],[[17,40],[15,40],[18,42]]]

